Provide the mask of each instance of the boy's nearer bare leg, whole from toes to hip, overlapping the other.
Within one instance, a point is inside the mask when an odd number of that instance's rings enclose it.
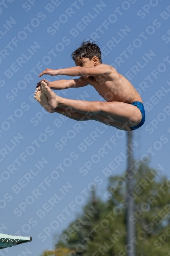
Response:
[[[123,102],[101,102],[71,100],[57,96],[45,82],[41,82],[42,91],[48,97],[48,103],[52,109],[57,107],[69,108],[81,114],[99,114],[108,119],[126,126],[136,126],[141,121],[140,110],[133,105]]]

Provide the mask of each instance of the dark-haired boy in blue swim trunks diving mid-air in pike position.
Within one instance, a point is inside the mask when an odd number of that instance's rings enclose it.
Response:
[[[76,121],[95,120],[125,131],[144,124],[142,99],[132,84],[112,66],[102,64],[101,51],[94,42],[83,42],[72,53],[77,67],[46,69],[42,75],[80,76],[78,79],[37,83],[34,98],[50,113],[57,112]],[[90,84],[106,100],[83,101],[57,96],[51,89],[83,87]]]

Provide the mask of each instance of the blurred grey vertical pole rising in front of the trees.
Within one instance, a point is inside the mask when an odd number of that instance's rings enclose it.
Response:
[[[130,144],[132,144],[132,134],[133,132],[128,132],[127,136],[127,146],[129,148]],[[127,172],[129,173],[128,177],[132,177],[129,178],[127,181],[127,195],[131,195],[131,191],[133,190],[133,182],[134,182],[134,174],[133,172],[130,170],[130,167],[133,164],[133,156],[132,156],[132,151],[131,153],[127,152],[127,154],[129,155],[127,158]],[[135,225],[132,223],[132,221],[130,221],[130,217],[133,215],[134,213],[134,202],[132,200],[132,197],[128,197],[127,196],[127,203],[128,203],[128,207],[127,207],[127,212],[126,212],[126,223],[127,223],[127,256],[135,256],[135,243],[134,243],[134,238],[135,238]]]

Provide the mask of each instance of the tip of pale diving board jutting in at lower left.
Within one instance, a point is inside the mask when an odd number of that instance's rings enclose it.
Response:
[[[0,234],[0,250],[31,241],[32,237],[11,236],[11,234]]]

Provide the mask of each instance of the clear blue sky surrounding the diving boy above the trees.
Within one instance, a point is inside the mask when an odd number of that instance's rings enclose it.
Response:
[[[97,40],[103,63],[132,82],[146,108],[145,124],[133,132],[134,158],[163,167],[161,175],[169,177],[170,6],[160,0],[5,0],[0,16],[0,229],[33,237],[0,255],[22,255],[27,247],[38,256],[53,248],[54,234],[76,218],[95,185],[105,199],[102,171],[114,164],[112,174],[123,174],[127,146],[127,134],[113,127],[45,112],[33,99],[38,74],[74,66],[71,52],[85,39]],[[101,100],[90,86],[56,93]]]

